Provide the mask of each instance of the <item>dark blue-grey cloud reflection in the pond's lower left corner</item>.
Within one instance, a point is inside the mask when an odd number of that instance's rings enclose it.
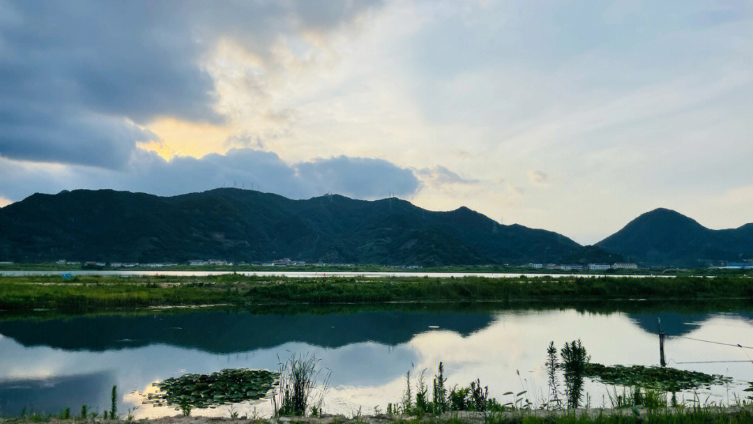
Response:
[[[57,413],[73,407],[72,413],[76,414],[83,404],[100,410],[109,404],[112,380],[108,373],[0,380],[0,410],[5,415],[17,415],[24,408],[29,412]]]

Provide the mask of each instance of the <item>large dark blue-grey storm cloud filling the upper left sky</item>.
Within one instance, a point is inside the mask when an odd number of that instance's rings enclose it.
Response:
[[[321,7],[319,7],[321,6]],[[264,56],[365,2],[0,2],[0,156],[118,169],[157,116],[221,122],[200,58],[220,37]]]

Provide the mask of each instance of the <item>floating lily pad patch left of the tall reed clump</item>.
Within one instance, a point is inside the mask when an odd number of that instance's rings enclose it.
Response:
[[[278,374],[266,370],[226,369],[212,374],[185,374],[156,383],[160,392],[149,401],[172,406],[212,407],[263,398]]]

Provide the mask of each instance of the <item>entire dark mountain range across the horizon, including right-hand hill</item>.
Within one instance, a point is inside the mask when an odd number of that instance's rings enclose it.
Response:
[[[434,212],[397,198],[291,200],[235,188],[172,197],[62,191],[0,209],[0,261],[700,264],[737,260],[740,253],[748,258],[751,245],[753,224],[709,230],[667,209],[641,215],[596,246],[581,246],[465,207]]]

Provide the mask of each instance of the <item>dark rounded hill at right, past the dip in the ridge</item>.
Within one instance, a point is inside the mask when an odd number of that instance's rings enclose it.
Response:
[[[753,256],[753,224],[711,230],[670,209],[630,221],[596,246],[650,265],[706,266]]]

